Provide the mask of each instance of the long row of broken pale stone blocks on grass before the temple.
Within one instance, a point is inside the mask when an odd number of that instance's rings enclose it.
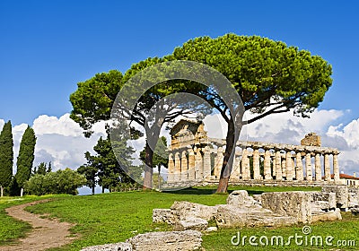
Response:
[[[211,220],[215,220],[218,228],[337,221],[342,219],[340,211],[358,206],[359,189],[323,186],[321,192],[272,192],[253,197],[245,190],[238,190],[226,202],[215,206],[175,202],[170,210],[153,210],[153,222],[166,222],[180,230],[206,230]]]

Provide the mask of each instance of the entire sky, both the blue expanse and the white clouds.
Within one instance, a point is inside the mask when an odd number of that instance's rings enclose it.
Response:
[[[249,138],[299,143],[314,131],[343,152],[347,173],[359,171],[358,9],[357,1],[328,0],[0,0],[0,127],[12,120],[16,152],[25,124],[33,126],[35,165],[51,160],[55,169],[75,169],[103,135],[99,125],[83,138],[68,117],[77,82],[111,69],[125,73],[199,36],[259,35],[322,56],[334,82],[310,120],[267,117],[247,129]]]

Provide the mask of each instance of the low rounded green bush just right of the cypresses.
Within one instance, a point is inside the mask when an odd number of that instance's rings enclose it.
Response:
[[[72,169],[65,169],[46,175],[35,174],[25,182],[24,190],[30,195],[77,195],[77,188],[85,183],[83,175]]]

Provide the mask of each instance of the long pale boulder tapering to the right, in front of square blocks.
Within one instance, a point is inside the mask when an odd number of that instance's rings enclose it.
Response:
[[[218,208],[215,221],[220,228],[232,227],[278,227],[297,223],[291,216],[282,216],[261,207],[238,208],[222,205]]]

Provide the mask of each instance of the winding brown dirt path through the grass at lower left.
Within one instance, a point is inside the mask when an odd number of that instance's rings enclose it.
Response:
[[[73,224],[58,220],[42,219],[40,218],[41,215],[24,211],[24,208],[27,206],[46,202],[48,200],[15,205],[6,209],[6,212],[13,218],[29,222],[33,229],[26,238],[20,239],[20,244],[0,247],[0,251],[39,251],[50,247],[61,247],[74,240],[74,238],[68,237],[70,235],[69,229],[74,226]]]

